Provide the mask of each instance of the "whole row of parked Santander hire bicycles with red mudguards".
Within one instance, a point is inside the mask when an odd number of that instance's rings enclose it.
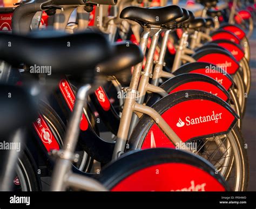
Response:
[[[0,10],[2,191],[246,190],[246,33],[217,0],[150,3]]]

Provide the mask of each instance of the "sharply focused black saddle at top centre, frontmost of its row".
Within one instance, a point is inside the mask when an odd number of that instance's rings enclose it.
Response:
[[[120,13],[120,18],[133,20],[143,27],[150,27],[151,25],[165,25],[182,16],[182,9],[176,5],[157,8],[128,6]]]

